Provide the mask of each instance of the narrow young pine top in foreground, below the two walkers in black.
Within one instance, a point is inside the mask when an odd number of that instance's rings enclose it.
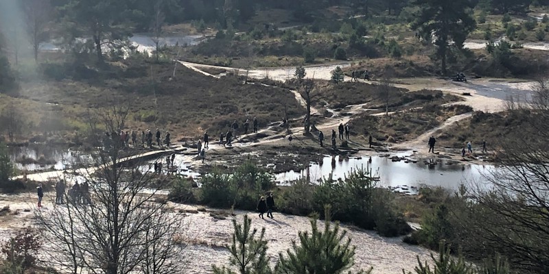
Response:
[[[256,238],[257,229],[251,230],[252,220],[244,215],[244,226],[233,219],[233,244],[227,247],[231,252],[230,264],[237,271],[226,269],[223,266],[219,269],[213,266],[215,274],[270,274],[272,271],[268,266],[266,257],[267,242],[264,240],[265,228],[261,229],[259,238]]]

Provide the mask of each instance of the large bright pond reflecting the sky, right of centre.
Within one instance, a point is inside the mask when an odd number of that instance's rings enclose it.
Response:
[[[415,160],[414,160],[415,161]],[[353,169],[366,169],[371,167],[374,176],[380,177],[382,186],[413,190],[419,186],[441,186],[443,188],[457,189],[460,184],[466,182],[486,182],[484,175],[494,169],[493,166],[481,165],[460,165],[425,164],[423,161],[416,163],[411,160],[408,163],[393,162],[390,158],[372,156],[369,158],[342,158],[340,156],[325,156],[319,163],[312,163],[302,171],[289,171],[276,175],[277,182],[285,184],[300,178],[309,178],[310,182],[316,183],[319,179],[328,178],[344,179],[345,175]],[[406,189],[405,189],[406,188]]]

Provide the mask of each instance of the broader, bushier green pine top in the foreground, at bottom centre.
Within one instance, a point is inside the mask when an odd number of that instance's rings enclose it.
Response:
[[[280,260],[275,268],[280,274],[339,274],[354,264],[355,247],[347,231],[340,232],[339,224],[332,228],[329,220],[329,207],[326,208],[324,231],[318,230],[316,219],[311,220],[312,232],[299,232],[299,243],[292,242],[292,250],[286,256],[279,254]],[[347,239],[345,239],[347,238]],[[359,271],[358,273],[370,273]],[[349,272],[350,273],[350,272]]]

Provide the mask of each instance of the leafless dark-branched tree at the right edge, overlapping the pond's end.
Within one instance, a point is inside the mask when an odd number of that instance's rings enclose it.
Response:
[[[508,110],[509,121],[520,121],[496,151],[500,165],[479,184],[471,207],[468,242],[471,249],[498,252],[515,269],[549,272],[549,90],[535,88],[530,104]],[[471,245],[471,244],[469,244]]]

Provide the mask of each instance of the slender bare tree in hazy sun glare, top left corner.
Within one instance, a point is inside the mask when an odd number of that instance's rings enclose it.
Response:
[[[23,0],[21,4],[26,16],[27,33],[34,50],[34,61],[38,62],[38,49],[40,43],[48,39],[47,23],[54,9],[49,0]]]

